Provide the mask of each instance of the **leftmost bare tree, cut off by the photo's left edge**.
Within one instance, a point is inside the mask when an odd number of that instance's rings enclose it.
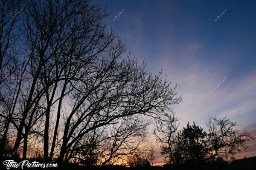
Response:
[[[23,0],[0,1],[0,126],[3,127],[0,139],[0,156],[8,142],[8,132],[16,128],[15,106],[20,93],[20,82],[24,63],[20,61],[20,11]],[[7,144],[9,146],[9,144]]]

